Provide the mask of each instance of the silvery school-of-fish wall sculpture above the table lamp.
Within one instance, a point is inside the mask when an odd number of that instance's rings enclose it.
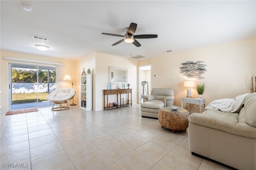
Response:
[[[204,79],[202,74],[204,74],[207,70],[205,69],[206,64],[202,63],[204,63],[204,61],[187,61],[186,63],[182,63],[180,73],[191,79]]]

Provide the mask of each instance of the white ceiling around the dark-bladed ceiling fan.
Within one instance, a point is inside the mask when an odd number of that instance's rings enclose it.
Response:
[[[21,8],[28,4],[31,12]],[[78,59],[98,51],[147,59],[198,47],[256,36],[256,1],[86,1],[1,0],[1,49],[51,57]],[[122,42],[131,22],[142,45]],[[32,35],[49,38],[33,39]],[[40,51],[35,45],[50,47]],[[172,50],[170,53],[163,51]]]

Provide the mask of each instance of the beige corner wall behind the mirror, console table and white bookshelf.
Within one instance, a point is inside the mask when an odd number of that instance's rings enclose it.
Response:
[[[78,63],[79,73],[81,75],[82,68],[91,68],[93,74],[93,104],[92,109],[95,111],[104,109],[103,105],[103,89],[107,89],[109,83],[109,67],[117,67],[128,69],[127,79],[130,83],[132,90],[132,103],[137,103],[137,65],[138,61],[132,59],[125,59],[114,55],[108,55],[104,53],[91,53],[85,57],[82,57]],[[81,72],[81,73],[80,73]],[[77,74],[77,75],[78,75]],[[126,86],[127,88],[127,86]],[[112,89],[116,89],[116,85],[112,84]],[[80,93],[80,91],[79,91]],[[119,97],[118,97],[119,98]],[[127,95],[122,95],[122,98],[126,99]],[[109,102],[115,102],[116,95],[109,96]],[[118,102],[120,102],[118,100]]]

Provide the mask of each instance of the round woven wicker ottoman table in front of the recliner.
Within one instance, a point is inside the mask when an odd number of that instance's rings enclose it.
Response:
[[[162,127],[175,130],[186,130],[188,128],[189,113],[186,109],[172,110],[170,107],[160,109],[158,121]]]

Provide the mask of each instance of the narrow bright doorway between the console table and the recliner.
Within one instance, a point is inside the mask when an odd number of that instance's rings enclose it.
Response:
[[[140,65],[138,70],[138,103],[143,103],[143,95],[151,94],[151,65]]]

